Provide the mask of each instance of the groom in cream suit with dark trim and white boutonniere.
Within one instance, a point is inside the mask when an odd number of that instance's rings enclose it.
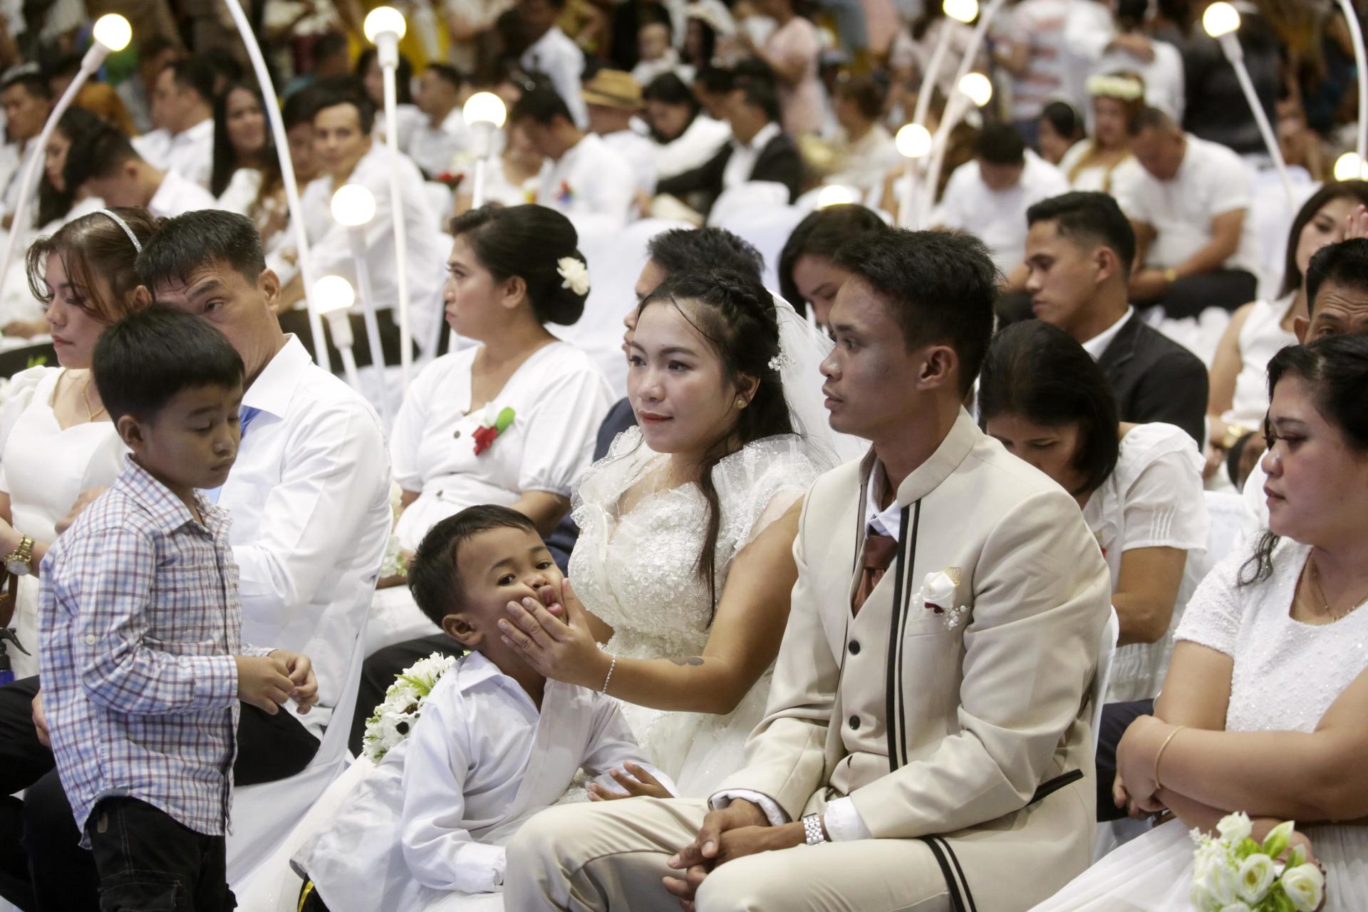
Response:
[[[509,909],[1012,912],[1088,867],[1107,566],[1074,499],[960,406],[992,260],[888,231],[837,263],[828,407],[873,447],[807,495],[746,767],[707,801],[538,815]]]

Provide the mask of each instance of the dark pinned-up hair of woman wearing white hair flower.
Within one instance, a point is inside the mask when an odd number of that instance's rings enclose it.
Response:
[[[569,257],[584,264],[570,220],[539,205],[480,206],[451,219],[453,237],[465,237],[480,265],[497,282],[518,276],[538,323],[570,325],[584,313],[586,294],[577,294],[558,272]],[[569,283],[573,284],[573,283]]]

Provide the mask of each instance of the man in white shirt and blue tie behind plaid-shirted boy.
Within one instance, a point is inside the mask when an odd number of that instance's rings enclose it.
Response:
[[[275,715],[242,710],[234,781],[283,779],[308,766],[331,723],[389,541],[390,472],[380,424],[356,391],[280,332],[280,284],[245,216],[212,211],[163,222],[137,269],[159,302],[219,328],[246,366],[238,458],[223,487],[205,494],[233,517],[228,544],[238,566],[242,636],[305,652],[317,674],[319,704],[308,715],[295,715],[293,704]],[[23,710],[33,732],[41,711]],[[23,838],[38,905],[96,908],[94,866],[78,846],[56,773],[36,783],[8,778],[36,777],[52,764],[18,711],[0,704],[4,749],[18,753],[0,764],[7,777],[0,788],[12,793],[27,786]]]

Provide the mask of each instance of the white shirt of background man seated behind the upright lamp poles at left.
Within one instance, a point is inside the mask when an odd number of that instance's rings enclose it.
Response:
[[[438,340],[442,314],[442,283],[446,280],[447,242],[434,230],[435,216],[428,209],[423,175],[413,161],[399,155],[394,159],[378,138],[371,150],[356,164],[346,183],[358,183],[375,197],[375,217],[365,226],[365,263],[376,309],[398,308],[398,265],[394,257],[394,209],[390,202],[390,172],[399,172],[404,197],[404,227],[408,242],[409,320],[413,340],[431,351]],[[315,179],[304,190],[304,226],[309,238],[309,256],[315,275],[339,275],[357,289],[353,313],[363,313],[361,290],[352,260],[349,228],[332,217],[331,175]]]

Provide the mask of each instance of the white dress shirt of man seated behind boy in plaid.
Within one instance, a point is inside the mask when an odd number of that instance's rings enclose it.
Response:
[[[390,540],[384,436],[365,399],[293,335],[242,405],[260,413],[218,500],[233,515],[242,636],[313,660],[319,704],[298,719],[319,734],[342,697]]]

